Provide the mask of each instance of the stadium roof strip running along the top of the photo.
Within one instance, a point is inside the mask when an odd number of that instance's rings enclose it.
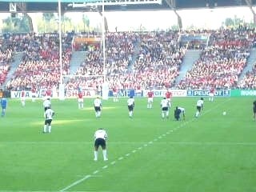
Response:
[[[58,0],[2,0],[0,12],[10,12],[10,3],[17,4],[17,12],[57,12]],[[62,11],[94,11],[91,6],[102,5],[102,0],[61,0]],[[90,5],[90,6],[89,6]],[[186,10],[256,6],[256,0],[104,0],[105,11],[129,10]]]

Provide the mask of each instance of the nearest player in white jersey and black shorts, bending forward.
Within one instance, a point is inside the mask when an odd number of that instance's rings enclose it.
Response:
[[[102,154],[104,161],[107,161],[106,156],[106,130],[103,130],[102,128],[98,129],[94,133],[94,161],[98,160],[98,147],[102,146]]]

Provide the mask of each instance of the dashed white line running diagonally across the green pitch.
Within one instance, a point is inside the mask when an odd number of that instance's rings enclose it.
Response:
[[[226,100],[225,102],[218,103],[218,105],[215,105],[213,108],[211,108],[211,109],[209,109],[209,110],[206,110],[206,112],[205,112],[204,114],[210,113],[210,111],[214,110],[215,108],[218,108],[218,106],[223,105],[224,103],[229,102],[229,101],[230,101],[230,99]],[[177,126],[177,127],[174,128],[173,130],[178,130],[179,128],[181,128],[181,127],[183,127],[183,126],[186,126],[187,124],[189,124],[190,122],[193,122],[194,120],[195,120],[195,118],[192,118],[192,119],[191,119],[190,121],[188,121],[188,122],[182,122],[181,125]],[[166,133],[168,133],[168,131],[167,131]],[[166,136],[166,134],[162,134],[162,135],[165,135],[165,136]],[[158,136],[157,138],[158,138],[158,139],[161,139],[162,136]],[[156,139],[156,138],[154,138],[154,139]],[[150,142],[148,142],[148,143],[153,144],[152,141],[150,141]],[[142,147],[143,147],[143,146],[142,146]],[[144,147],[146,147],[145,144],[144,144]],[[131,153],[136,153],[136,152],[137,152],[137,150],[132,150],[132,151],[131,151]],[[127,157],[127,155],[126,155],[126,157]],[[121,160],[121,159],[123,159],[123,158],[122,158],[122,157],[119,157],[119,158],[118,158],[118,160]],[[113,164],[112,164],[112,165],[113,165]],[[106,169],[107,167],[108,167],[108,166],[103,166],[102,169]],[[76,185],[78,185],[78,184],[81,183],[81,182],[84,182],[84,181],[85,181],[86,179],[88,179],[88,178],[90,178],[90,174],[86,175],[84,178],[79,179],[78,181],[75,181],[75,182],[71,183],[69,186],[66,186],[65,188],[63,188],[63,189],[60,190],[60,191],[69,190],[71,187],[76,186]]]

